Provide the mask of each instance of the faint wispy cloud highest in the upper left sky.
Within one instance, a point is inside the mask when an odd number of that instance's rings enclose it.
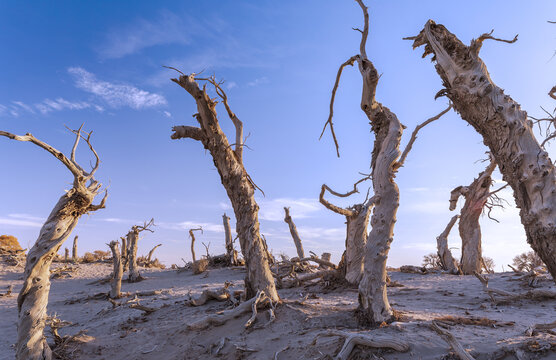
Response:
[[[195,24],[191,17],[161,11],[152,21],[137,19],[112,29],[96,51],[103,59],[117,59],[156,45],[188,44]]]

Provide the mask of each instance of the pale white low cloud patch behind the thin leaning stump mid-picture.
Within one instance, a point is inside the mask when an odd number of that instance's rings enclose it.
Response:
[[[311,217],[311,214],[322,210],[316,199],[259,199],[257,202],[260,206],[259,218],[268,221],[283,221],[284,207],[289,207],[292,217],[296,219]]]

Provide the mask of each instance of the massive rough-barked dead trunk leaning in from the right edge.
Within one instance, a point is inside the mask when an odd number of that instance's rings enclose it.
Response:
[[[443,25],[429,20],[414,40],[433,54],[436,71],[454,108],[483,137],[520,209],[527,242],[545,262],[556,281],[556,173],[548,153],[539,145],[532,122],[520,105],[490,78],[479,57],[484,40],[514,42],[483,34],[464,45]]]

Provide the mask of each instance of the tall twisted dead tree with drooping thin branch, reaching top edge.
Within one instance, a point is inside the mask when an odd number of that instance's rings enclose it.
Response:
[[[359,72],[363,79],[363,92],[361,96],[361,110],[370,120],[371,129],[375,135],[374,147],[371,156],[371,178],[373,181],[374,197],[376,204],[371,217],[371,231],[365,248],[363,277],[359,283],[359,320],[362,324],[380,324],[394,319],[392,308],[388,303],[386,294],[386,260],[390,243],[394,236],[396,212],[399,206],[400,192],[394,181],[398,168],[402,167],[409,151],[411,150],[417,132],[425,125],[440,118],[450,110],[448,107],[442,113],[425,121],[416,127],[409,143],[403,153],[400,153],[400,139],[403,126],[387,107],[376,101],[376,87],[379,75],[373,63],[367,58],[365,50],[369,34],[369,14],[362,0],[355,0],[363,10],[365,25],[361,33],[360,53],[349,58],[340,66],[336,75],[336,82],[332,89],[330,100],[330,114],[324,126],[330,125],[330,130],[339,156],[339,147],[332,124],[334,98],[344,67],[353,66],[357,62]],[[321,135],[322,136],[322,135]]]

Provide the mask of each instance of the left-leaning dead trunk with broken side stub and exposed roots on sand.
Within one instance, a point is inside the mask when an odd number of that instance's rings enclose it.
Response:
[[[197,113],[194,115],[200,127],[175,126],[172,139],[190,138],[200,141],[209,150],[222,185],[228,193],[236,217],[236,231],[239,237],[241,252],[245,259],[247,276],[245,290],[247,298],[251,298],[258,291],[272,300],[278,301],[278,293],[274,284],[270,266],[265,256],[264,245],[259,229],[259,206],[255,201],[256,185],[243,166],[243,124],[232,112],[228,105],[226,93],[214,78],[195,78],[196,74],[182,75],[179,79],[172,79],[184,88],[197,103]],[[207,81],[214,86],[218,97],[222,100],[228,116],[234,123],[236,139],[230,144],[226,134],[220,128],[216,114],[217,102],[206,92],[206,84],[199,88],[197,81]],[[232,150],[232,146],[234,149]]]

